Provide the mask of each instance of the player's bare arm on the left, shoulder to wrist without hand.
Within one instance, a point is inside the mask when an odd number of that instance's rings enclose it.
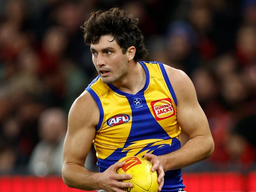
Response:
[[[90,113],[88,113],[90,111]],[[84,168],[84,162],[95,136],[99,119],[97,104],[85,91],[69,111],[68,129],[64,142],[62,177],[67,186],[84,190],[97,188],[97,174]]]

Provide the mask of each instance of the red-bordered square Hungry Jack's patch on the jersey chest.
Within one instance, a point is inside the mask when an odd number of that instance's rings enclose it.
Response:
[[[172,100],[170,98],[152,101],[150,104],[151,104],[153,113],[155,115],[155,119],[157,121],[160,121],[162,119],[166,119],[168,117],[172,117],[175,115],[175,111],[172,105]]]

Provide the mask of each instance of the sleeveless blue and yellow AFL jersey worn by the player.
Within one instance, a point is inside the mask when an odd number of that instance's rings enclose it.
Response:
[[[103,83],[99,76],[86,88],[100,112],[93,140],[100,172],[122,157],[164,155],[181,147],[177,100],[164,66],[139,63],[146,72],[146,83],[135,95]],[[180,169],[165,173],[162,191],[184,187]]]

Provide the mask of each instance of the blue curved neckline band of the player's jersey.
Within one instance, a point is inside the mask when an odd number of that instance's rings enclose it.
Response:
[[[148,67],[145,65],[145,63],[143,62],[140,62],[140,65],[142,65],[145,73],[146,73],[146,82],[145,82],[145,85],[142,89],[140,89],[140,91],[138,91],[138,93],[136,93],[135,95],[140,95],[142,93],[144,93],[144,91],[148,88],[148,84],[149,84],[149,71],[148,71]],[[126,93],[126,92],[123,92],[121,90],[119,90],[118,88],[116,88],[113,84],[108,84],[108,86],[116,93],[118,93],[119,95],[123,95],[125,97],[133,97],[135,95],[133,94],[130,94],[130,93]]]

